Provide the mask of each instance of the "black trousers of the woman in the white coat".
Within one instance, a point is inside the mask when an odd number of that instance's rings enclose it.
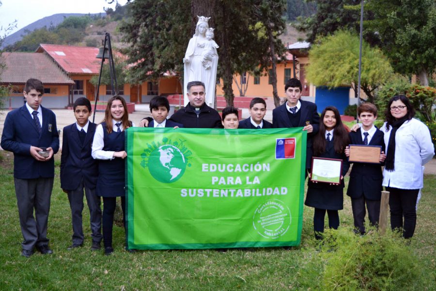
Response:
[[[403,237],[413,237],[416,226],[416,199],[419,189],[386,187],[389,191],[390,227],[403,230]],[[404,222],[403,222],[404,217]]]

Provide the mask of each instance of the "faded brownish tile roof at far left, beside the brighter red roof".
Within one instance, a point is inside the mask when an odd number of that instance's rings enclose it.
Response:
[[[74,84],[47,54],[3,52],[1,59],[6,65],[1,72],[1,83],[25,83],[30,78],[36,78],[43,84]]]

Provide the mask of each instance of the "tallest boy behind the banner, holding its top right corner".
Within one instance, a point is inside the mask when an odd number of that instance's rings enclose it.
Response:
[[[300,100],[301,90],[301,82],[298,79],[291,78],[286,81],[287,101],[273,110],[273,128],[303,127],[303,130],[307,130],[306,169],[309,169],[313,137],[319,130],[319,114],[315,103]]]

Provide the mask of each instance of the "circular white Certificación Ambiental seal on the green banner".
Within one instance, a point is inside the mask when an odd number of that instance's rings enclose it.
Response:
[[[277,239],[291,226],[291,211],[278,199],[271,199],[254,211],[253,227],[267,239]]]

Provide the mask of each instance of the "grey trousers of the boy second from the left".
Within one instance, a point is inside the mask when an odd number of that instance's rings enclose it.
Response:
[[[68,191],[68,201],[71,209],[71,222],[73,224],[73,243],[82,244],[84,235],[82,227],[83,189],[90,213],[91,237],[94,242],[101,242],[101,198],[95,194],[95,188],[85,186],[83,179],[76,190]]]

